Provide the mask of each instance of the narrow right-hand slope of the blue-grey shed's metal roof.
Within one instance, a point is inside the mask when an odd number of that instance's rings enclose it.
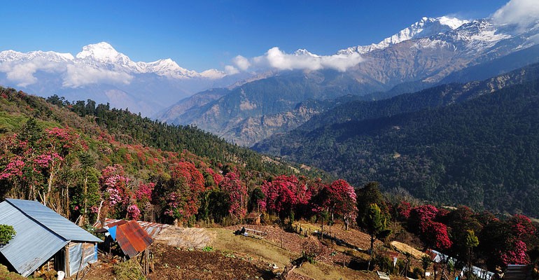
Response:
[[[9,202],[11,205],[22,211],[22,213],[34,219],[34,221],[40,223],[45,228],[48,228],[66,240],[89,242],[102,241],[90,232],[83,230],[78,227],[78,225],[75,225],[39,202],[13,199],[6,199],[6,202]]]

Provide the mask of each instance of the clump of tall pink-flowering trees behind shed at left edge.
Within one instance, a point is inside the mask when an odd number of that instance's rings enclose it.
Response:
[[[0,180],[15,186],[12,197],[40,200],[45,205],[53,202],[57,211],[62,211],[60,204],[69,205],[69,196],[57,194],[69,193],[69,184],[57,176],[66,158],[85,148],[76,132],[59,127],[43,130],[29,119],[19,134],[2,137],[0,144]],[[54,201],[49,201],[52,193],[56,193]]]

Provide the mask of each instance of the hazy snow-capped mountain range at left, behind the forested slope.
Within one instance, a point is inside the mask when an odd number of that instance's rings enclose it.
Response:
[[[227,76],[209,69],[198,73],[172,59],[134,62],[106,42],[85,45],[70,53],[0,52],[0,85],[48,97],[74,101],[94,99],[117,108],[151,116],[179,99],[211,87],[223,87],[248,77]]]

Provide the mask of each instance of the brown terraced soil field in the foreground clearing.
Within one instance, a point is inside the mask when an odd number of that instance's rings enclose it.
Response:
[[[242,226],[267,232],[264,238],[234,235]],[[299,234],[299,228],[302,234]],[[154,269],[148,279],[274,279],[290,260],[299,258],[307,237],[319,230],[318,225],[295,223],[296,232],[286,232],[272,225],[235,225],[228,228],[171,228],[163,231],[150,249],[154,256]],[[368,258],[365,248],[370,237],[358,230],[344,231],[340,226],[329,228],[321,242],[323,250],[316,262],[304,263],[294,269],[288,279],[372,279],[374,272],[351,269],[353,257]],[[331,236],[332,239],[328,238]],[[339,239],[341,242],[335,242]],[[381,242],[377,243],[377,246]],[[358,248],[357,250],[355,248]],[[114,262],[114,261],[113,261]],[[113,263],[92,265],[84,279],[118,279]],[[391,279],[404,279],[391,276]]]

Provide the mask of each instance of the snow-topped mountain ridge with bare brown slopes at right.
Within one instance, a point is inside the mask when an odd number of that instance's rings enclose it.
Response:
[[[539,59],[538,48],[532,48],[537,34],[539,25],[521,30],[495,25],[491,19],[422,18],[380,43],[339,50],[337,54],[355,52],[363,57],[363,62],[347,71],[281,71],[239,85],[204,106],[194,106],[177,115],[166,113],[162,120],[197,125],[228,141],[251,146],[274,132],[286,132],[266,126],[262,121],[265,118],[288,116],[281,119],[280,125],[293,129],[331,107],[304,107],[305,112],[310,112],[308,115],[295,113],[297,105],[307,99],[328,101],[346,95],[363,100],[383,99],[437,85],[452,73],[470,73],[461,71],[471,67],[488,73],[482,76],[487,78],[498,72],[492,73],[492,69],[481,67],[482,64],[517,52],[526,52],[526,57],[496,69],[511,71],[531,64]],[[295,55],[311,54],[298,50]],[[466,80],[463,76],[454,79]],[[393,92],[384,94],[389,90]]]

